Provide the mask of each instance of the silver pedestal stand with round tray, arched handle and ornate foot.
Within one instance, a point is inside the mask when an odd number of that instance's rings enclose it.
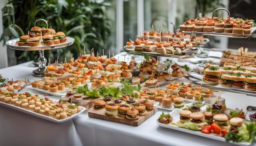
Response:
[[[35,21],[34,26],[36,26],[36,22],[38,21],[43,21],[46,23],[46,27],[48,28],[48,23],[46,20],[40,18],[38,20]],[[17,42],[20,40],[20,38],[15,38],[12,40],[9,40],[6,42],[6,44],[11,48],[11,49],[16,49],[16,50],[23,50],[23,51],[39,51],[39,58],[38,58],[38,66],[39,68],[33,71],[33,75],[36,77],[43,77],[44,72],[46,71],[46,63],[47,63],[47,59],[45,58],[45,50],[51,50],[51,49],[58,49],[58,48],[62,48],[65,46],[70,46],[74,43],[74,38],[71,37],[66,37],[67,41],[60,43],[60,44],[53,44],[51,46],[49,45],[45,45],[40,43],[39,46],[18,46]]]

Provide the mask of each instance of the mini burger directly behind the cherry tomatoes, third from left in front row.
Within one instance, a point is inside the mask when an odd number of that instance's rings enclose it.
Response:
[[[230,125],[229,125],[229,118],[227,115],[221,113],[213,116],[213,123],[218,124],[221,129],[227,129],[229,130]]]

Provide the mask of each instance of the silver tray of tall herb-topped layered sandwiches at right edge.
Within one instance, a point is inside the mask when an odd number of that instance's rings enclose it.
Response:
[[[247,69],[254,69],[254,67]],[[205,75],[195,72],[189,72],[188,75],[194,84],[221,91],[233,91],[254,96],[256,93],[256,77],[253,76],[252,70],[249,71],[247,69],[241,68],[241,66],[234,66],[234,70],[232,70],[231,66],[229,66],[213,71],[208,68],[204,70]]]

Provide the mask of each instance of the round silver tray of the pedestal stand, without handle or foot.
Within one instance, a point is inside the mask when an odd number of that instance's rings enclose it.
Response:
[[[65,46],[70,46],[75,42],[74,38],[71,38],[71,37],[66,37],[66,38],[67,38],[66,42],[61,42],[60,44],[53,44],[51,46],[42,44],[42,43],[40,43],[39,46],[18,46],[17,42],[20,40],[20,38],[11,39],[7,41],[6,44],[11,49],[24,50],[24,51],[40,51],[40,50],[50,50],[50,49],[57,49]]]

